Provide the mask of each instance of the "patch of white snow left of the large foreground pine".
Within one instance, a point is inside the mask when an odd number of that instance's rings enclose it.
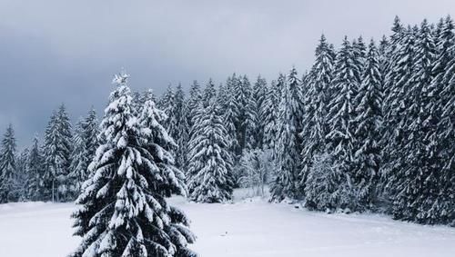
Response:
[[[0,204],[0,256],[64,257],[77,246],[71,203]]]

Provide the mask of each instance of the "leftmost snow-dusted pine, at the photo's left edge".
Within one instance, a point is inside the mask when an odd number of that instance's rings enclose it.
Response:
[[[9,124],[2,139],[0,152],[0,203],[17,201],[15,198],[15,130]]]

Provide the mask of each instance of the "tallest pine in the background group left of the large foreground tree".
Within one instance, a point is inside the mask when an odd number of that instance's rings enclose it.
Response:
[[[66,107],[60,105],[57,112],[52,114],[45,129],[45,187],[46,200],[66,201],[66,176],[69,173],[69,158],[71,154],[72,134]]]

